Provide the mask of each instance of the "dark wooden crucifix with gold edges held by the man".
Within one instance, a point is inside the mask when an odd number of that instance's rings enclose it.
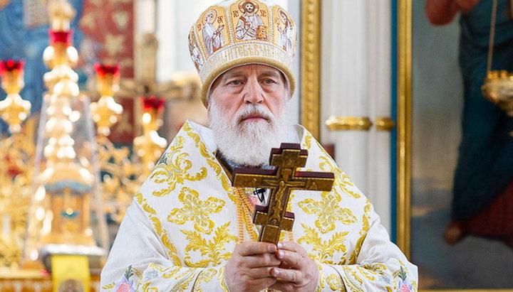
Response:
[[[269,204],[257,205],[253,223],[261,225],[259,242],[278,243],[281,230],[292,231],[294,213],[286,212],[292,190],[331,190],[333,173],[296,171],[306,165],[308,151],[299,144],[282,143],[272,148],[269,164],[276,169],[234,168],[232,185],[239,188],[268,188]]]

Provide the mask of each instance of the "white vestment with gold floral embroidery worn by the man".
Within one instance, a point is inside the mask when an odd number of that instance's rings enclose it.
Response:
[[[320,271],[318,291],[416,291],[417,267],[390,242],[371,202],[302,126],[302,171],[331,171],[331,192],[294,190],[292,232]],[[295,135],[294,135],[295,134]],[[227,291],[224,265],[254,239],[244,189],[214,156],[212,132],[187,121],[135,195],[101,274],[102,291]],[[251,205],[249,205],[251,206]]]

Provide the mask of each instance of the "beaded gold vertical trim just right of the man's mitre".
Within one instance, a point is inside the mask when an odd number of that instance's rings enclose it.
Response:
[[[301,1],[301,124],[319,139],[321,0]]]

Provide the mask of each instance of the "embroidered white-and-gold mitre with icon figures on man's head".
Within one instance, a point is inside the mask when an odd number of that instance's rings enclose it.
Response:
[[[192,61],[202,80],[202,101],[212,82],[227,70],[264,64],[281,70],[294,94],[292,62],[296,26],[281,6],[264,0],[228,0],[204,11],[189,33]]]

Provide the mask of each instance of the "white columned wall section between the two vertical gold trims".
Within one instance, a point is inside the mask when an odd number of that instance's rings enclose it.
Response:
[[[390,117],[390,0],[323,0],[321,19],[321,122]],[[321,138],[389,229],[390,133],[321,126]]]

